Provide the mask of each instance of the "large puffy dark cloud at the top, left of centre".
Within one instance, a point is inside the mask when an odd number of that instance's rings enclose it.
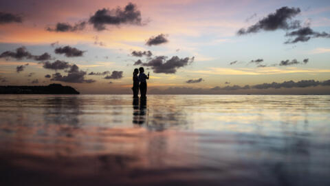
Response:
[[[103,8],[95,12],[89,18],[89,23],[98,31],[105,30],[105,25],[133,24],[142,25],[141,12],[133,3],[129,3],[124,9],[118,7],[113,10]]]

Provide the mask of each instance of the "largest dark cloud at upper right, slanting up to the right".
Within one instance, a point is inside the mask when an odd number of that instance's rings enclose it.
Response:
[[[288,8],[287,6],[284,6],[277,9],[276,12],[268,14],[267,17],[264,17],[254,25],[251,25],[249,28],[241,28],[237,34],[250,34],[261,30],[274,31],[278,29],[289,30],[300,28],[300,21],[288,22],[289,19],[292,19],[299,13],[299,8]]]

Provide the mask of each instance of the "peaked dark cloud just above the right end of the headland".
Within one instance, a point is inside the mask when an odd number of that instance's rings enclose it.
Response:
[[[62,76],[61,73],[56,72],[52,75],[51,81],[63,81],[67,83],[94,83],[94,79],[85,79],[87,72],[79,70],[77,65],[72,65],[67,71],[67,76]]]

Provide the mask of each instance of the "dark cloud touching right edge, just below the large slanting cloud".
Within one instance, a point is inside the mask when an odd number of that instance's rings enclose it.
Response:
[[[298,30],[289,32],[285,34],[286,37],[294,37],[294,39],[288,39],[285,41],[285,44],[289,43],[298,43],[298,42],[306,42],[311,38],[330,38],[330,34],[327,32],[316,32],[309,28],[308,26],[305,28],[299,28]]]

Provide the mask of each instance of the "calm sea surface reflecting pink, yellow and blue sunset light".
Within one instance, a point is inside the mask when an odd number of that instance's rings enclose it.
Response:
[[[0,184],[330,185],[330,96],[0,100]]]

